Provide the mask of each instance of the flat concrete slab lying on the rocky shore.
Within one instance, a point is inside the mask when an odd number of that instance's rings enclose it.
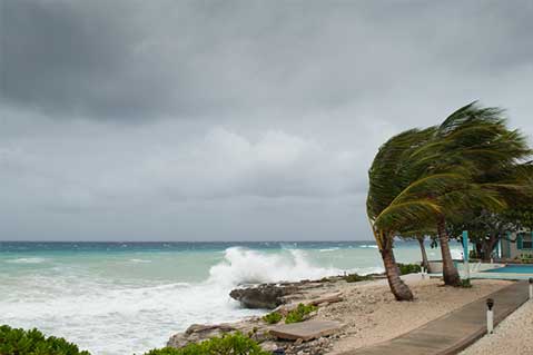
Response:
[[[304,342],[328,336],[340,329],[343,325],[333,321],[306,321],[302,323],[283,324],[270,329],[270,334],[289,341]]]

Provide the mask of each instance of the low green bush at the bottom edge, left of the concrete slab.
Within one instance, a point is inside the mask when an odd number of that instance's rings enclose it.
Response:
[[[181,348],[164,347],[145,355],[268,355],[260,346],[240,333],[214,337]]]

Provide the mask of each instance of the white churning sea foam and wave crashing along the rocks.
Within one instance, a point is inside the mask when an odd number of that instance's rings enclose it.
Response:
[[[179,255],[176,258],[179,259]],[[16,260],[11,262],[43,262]],[[145,260],[125,258],[125,265],[129,263],[131,267],[144,269],[157,263],[157,259]],[[195,265],[185,267],[194,268]],[[342,273],[333,267],[313,265],[303,250],[277,249],[273,253],[241,247],[227,248],[223,258],[211,265],[207,278],[196,283],[124,282],[102,274],[108,270],[91,274],[90,268],[80,265],[56,267],[52,272],[56,274],[49,275],[50,270],[37,273],[16,284],[10,278],[11,286],[0,285],[0,293],[9,295],[0,296],[2,322],[67,337],[98,355],[142,354],[164,346],[170,335],[185,331],[190,324],[231,322],[263,314],[264,310],[240,308],[228,296],[239,284],[319,278]]]

